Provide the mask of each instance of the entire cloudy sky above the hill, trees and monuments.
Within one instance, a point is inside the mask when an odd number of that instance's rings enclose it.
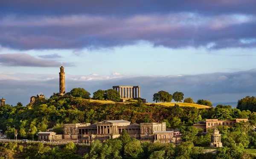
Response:
[[[256,94],[255,0],[0,0],[0,97],[140,85],[212,102]]]

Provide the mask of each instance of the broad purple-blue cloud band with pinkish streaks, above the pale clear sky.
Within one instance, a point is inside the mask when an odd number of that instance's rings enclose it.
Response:
[[[83,54],[82,48],[111,48],[139,41],[169,48],[256,47],[256,14],[175,12],[122,18],[91,14],[19,15],[3,17],[0,23],[0,43],[4,47],[23,50],[71,48],[77,56]]]

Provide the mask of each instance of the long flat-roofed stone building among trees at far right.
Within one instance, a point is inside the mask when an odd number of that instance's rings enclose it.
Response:
[[[209,129],[214,129],[218,125],[228,126],[230,128],[233,127],[233,125],[236,122],[247,122],[248,119],[234,119],[234,120],[218,120],[218,119],[206,119],[206,121],[201,121],[193,124],[196,128],[203,129],[204,133],[207,133]]]

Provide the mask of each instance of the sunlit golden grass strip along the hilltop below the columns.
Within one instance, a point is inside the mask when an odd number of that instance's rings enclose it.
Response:
[[[103,104],[107,104],[107,103],[124,103],[124,104],[129,104],[130,102],[113,102],[110,100],[93,100],[93,99],[87,99],[90,102],[99,102],[99,103],[103,103]],[[137,100],[131,99],[132,102],[137,102]],[[157,104],[157,105],[164,105],[167,107],[172,107],[175,104],[180,105],[180,107],[195,107],[195,108],[210,108],[206,105],[199,105],[199,104],[194,104],[194,103],[182,103],[182,102],[164,102],[164,103],[145,103],[148,105],[151,104]]]

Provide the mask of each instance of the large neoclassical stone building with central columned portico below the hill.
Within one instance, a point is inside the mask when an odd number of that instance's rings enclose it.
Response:
[[[125,120],[107,120],[96,124],[65,124],[64,139],[78,140],[79,142],[90,143],[99,139],[105,141],[120,136],[126,130],[131,138],[145,142],[175,142],[173,131],[166,131],[166,123],[140,123],[131,124]],[[70,130],[72,129],[72,130]],[[78,130],[78,131],[77,131]]]

